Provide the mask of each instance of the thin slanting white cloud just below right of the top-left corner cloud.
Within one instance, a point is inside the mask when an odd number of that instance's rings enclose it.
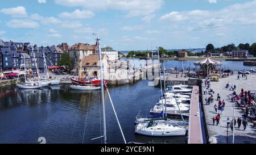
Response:
[[[49,24],[60,24],[62,23],[61,20],[53,17],[53,16],[47,16],[47,17],[43,17],[39,14],[32,14],[30,15],[31,19],[34,20],[38,20],[39,22],[41,22],[44,25],[49,25]]]

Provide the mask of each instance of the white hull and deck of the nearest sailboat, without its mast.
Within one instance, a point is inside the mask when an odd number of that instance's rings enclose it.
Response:
[[[149,121],[135,125],[135,133],[139,135],[156,137],[185,136],[186,129],[166,123]]]

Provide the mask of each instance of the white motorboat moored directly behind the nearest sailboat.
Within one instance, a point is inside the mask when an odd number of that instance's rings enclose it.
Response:
[[[164,105],[163,105],[164,106]],[[182,113],[189,113],[189,108],[187,106],[177,106],[175,104],[166,104],[166,112],[167,114],[182,114]],[[159,114],[162,113],[162,105],[156,104],[154,108],[150,110],[151,114]]]

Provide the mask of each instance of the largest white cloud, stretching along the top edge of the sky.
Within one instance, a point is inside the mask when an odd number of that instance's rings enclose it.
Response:
[[[68,7],[84,7],[89,10],[121,10],[127,16],[150,15],[159,10],[163,0],[55,0],[55,3]]]

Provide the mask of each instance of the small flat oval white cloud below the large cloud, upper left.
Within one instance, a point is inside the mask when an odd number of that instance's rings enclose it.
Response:
[[[59,14],[60,18],[92,18],[95,14],[92,11],[87,10],[75,10],[73,12],[61,12]]]

